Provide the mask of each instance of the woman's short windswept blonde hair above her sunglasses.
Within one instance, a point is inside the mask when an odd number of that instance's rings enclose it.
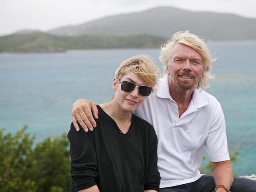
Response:
[[[135,73],[144,85],[150,86],[155,91],[158,81],[159,68],[155,66],[153,60],[147,55],[135,55],[124,60],[117,68],[115,76],[118,80],[128,72]]]

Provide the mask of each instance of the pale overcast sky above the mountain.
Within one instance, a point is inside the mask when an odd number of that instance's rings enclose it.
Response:
[[[0,0],[0,35],[45,31],[159,6],[256,18],[256,0]]]

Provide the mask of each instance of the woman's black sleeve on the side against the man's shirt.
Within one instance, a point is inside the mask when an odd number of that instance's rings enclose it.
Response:
[[[148,123],[149,124],[149,123]],[[153,126],[151,126],[151,134],[149,139],[149,164],[148,171],[146,174],[146,180],[144,183],[144,190],[156,190],[159,191],[160,185],[160,173],[158,172],[158,155],[157,155],[157,145],[158,139],[155,134]]]

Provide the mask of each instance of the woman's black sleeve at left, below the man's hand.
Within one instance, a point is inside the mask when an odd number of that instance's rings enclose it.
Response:
[[[83,130],[80,127],[80,130]],[[83,190],[96,185],[97,159],[94,146],[85,131],[77,132],[71,123],[68,133],[71,156],[71,177],[76,190]]]

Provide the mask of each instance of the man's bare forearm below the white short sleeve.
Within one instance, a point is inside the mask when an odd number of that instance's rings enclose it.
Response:
[[[216,187],[224,185],[228,190],[233,182],[233,171],[230,160],[213,162],[213,178]],[[222,187],[218,188],[216,192],[226,192]]]

